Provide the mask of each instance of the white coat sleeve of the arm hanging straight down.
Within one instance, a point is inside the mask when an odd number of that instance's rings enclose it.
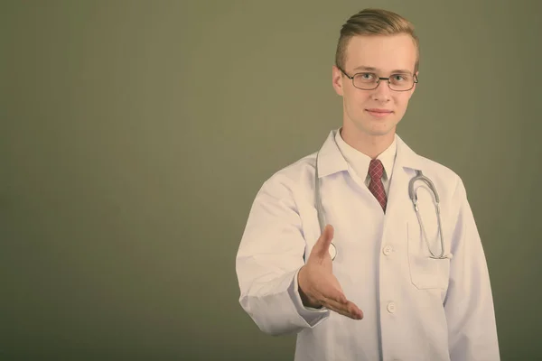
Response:
[[[499,361],[491,284],[478,229],[459,180],[461,204],[453,233],[453,260],[444,311],[452,361]]]

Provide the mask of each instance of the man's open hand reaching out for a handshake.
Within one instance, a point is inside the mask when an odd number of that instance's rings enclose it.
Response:
[[[329,248],[333,239],[333,227],[327,225],[313,246],[307,263],[297,274],[299,294],[305,306],[340,313],[350,319],[362,319],[363,312],[342,292],[341,284],[332,273],[332,257]]]

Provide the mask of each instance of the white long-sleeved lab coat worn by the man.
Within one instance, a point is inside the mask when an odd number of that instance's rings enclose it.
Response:
[[[489,273],[460,177],[414,153],[396,134],[386,214],[341,155],[333,130],[318,160],[333,274],[364,313],[348,319],[304,308],[297,273],[321,234],[314,207],[316,153],[277,171],[258,191],[236,270],[239,302],[259,329],[297,333],[294,359],[498,361]],[[408,198],[423,171],[440,196],[445,254],[432,259]],[[423,184],[416,182],[419,186]],[[418,189],[426,235],[440,254],[431,193]]]

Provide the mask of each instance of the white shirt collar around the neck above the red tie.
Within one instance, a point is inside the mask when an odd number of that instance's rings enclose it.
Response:
[[[361,179],[366,179],[369,173],[369,163],[371,161],[370,157],[353,148],[350,146],[350,144],[344,142],[341,136],[341,129],[337,130],[335,134],[335,142],[337,143],[339,151],[342,153],[342,156],[346,162],[348,162],[350,167]],[[391,178],[396,153],[397,139],[394,135],[393,143],[391,143],[384,152],[378,154],[377,156],[377,159],[382,162],[382,165],[384,165],[384,174],[382,176],[384,180]]]

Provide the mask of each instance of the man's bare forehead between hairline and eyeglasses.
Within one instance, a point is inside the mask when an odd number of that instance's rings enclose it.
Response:
[[[357,35],[346,48],[347,70],[358,67],[376,68],[387,72],[395,69],[414,71],[416,45],[408,34]]]

